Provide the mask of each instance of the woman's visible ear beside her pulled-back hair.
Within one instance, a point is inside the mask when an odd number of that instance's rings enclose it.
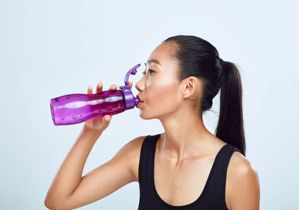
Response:
[[[196,77],[188,77],[183,80],[183,98],[189,98],[191,100],[196,99],[198,97],[198,86],[199,81]]]

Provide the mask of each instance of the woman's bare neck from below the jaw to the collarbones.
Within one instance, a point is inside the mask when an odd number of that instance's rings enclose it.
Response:
[[[161,134],[159,147],[178,161],[205,152],[203,148],[214,136],[204,126],[200,114],[176,111],[159,120],[165,131]]]

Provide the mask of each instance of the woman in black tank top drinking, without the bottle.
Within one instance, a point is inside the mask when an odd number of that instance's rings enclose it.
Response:
[[[96,92],[102,88],[99,83]],[[217,49],[201,38],[170,37],[154,49],[136,88],[140,117],[159,119],[165,132],[133,139],[82,177],[86,159],[112,116],[86,121],[48,191],[47,208],[82,207],[136,181],[139,210],[259,209],[259,179],[245,158],[242,85],[233,63],[219,58]],[[220,89],[213,135],[202,114]]]

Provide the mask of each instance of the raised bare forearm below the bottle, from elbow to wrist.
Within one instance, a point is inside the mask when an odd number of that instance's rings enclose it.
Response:
[[[54,203],[63,201],[75,191],[81,181],[90,151],[101,134],[101,132],[95,132],[83,126],[76,142],[58,170],[45,202],[47,200],[52,200]]]

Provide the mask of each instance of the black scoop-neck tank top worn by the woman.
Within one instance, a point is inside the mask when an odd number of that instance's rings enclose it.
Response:
[[[231,144],[224,145],[216,155],[207,182],[199,198],[188,205],[171,206],[159,197],[154,187],[154,154],[159,136],[160,134],[148,135],[141,147],[139,162],[140,201],[138,210],[228,210],[225,203],[227,167],[232,154],[235,151],[240,151]]]

